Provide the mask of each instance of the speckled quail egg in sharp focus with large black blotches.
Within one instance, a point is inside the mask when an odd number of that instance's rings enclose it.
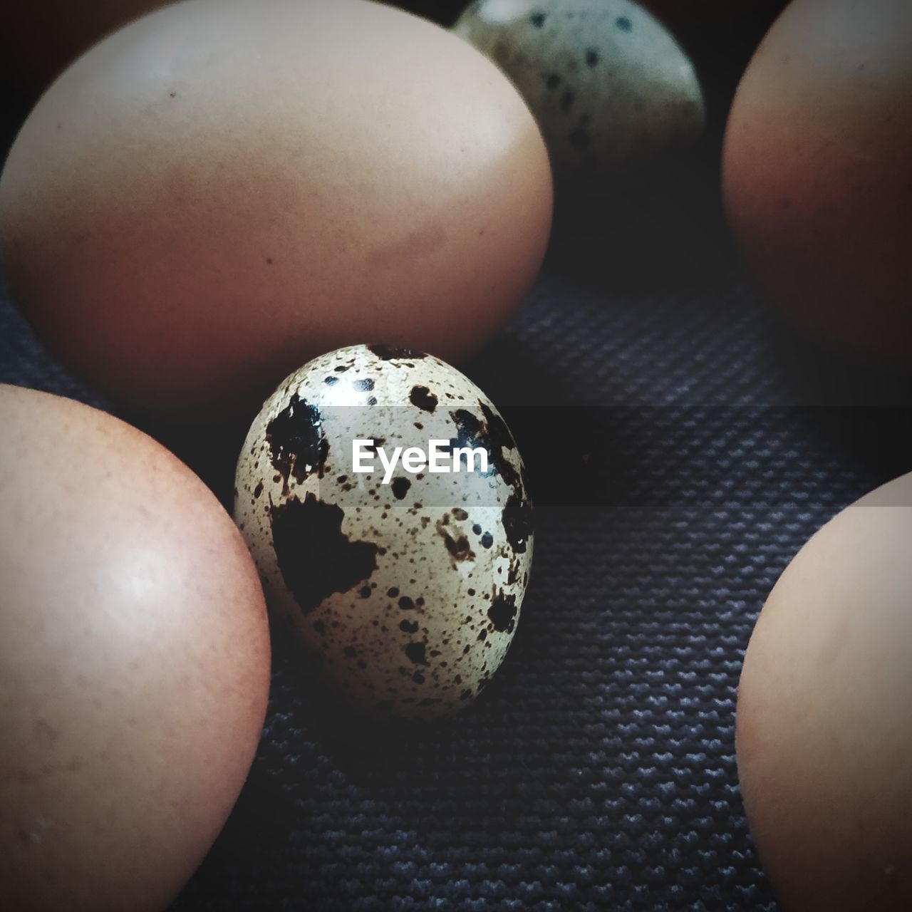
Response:
[[[375,718],[467,706],[500,666],[533,553],[523,461],[468,378],[403,348],[339,348],[268,399],[235,519],[276,619]]]

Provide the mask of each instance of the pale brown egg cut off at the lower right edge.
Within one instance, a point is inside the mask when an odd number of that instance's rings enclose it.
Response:
[[[786,912],[912,908],[912,474],[839,513],[763,607],[741,791]]]

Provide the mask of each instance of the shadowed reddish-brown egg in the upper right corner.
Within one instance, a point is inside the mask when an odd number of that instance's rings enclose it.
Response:
[[[794,0],[731,109],[724,195],[788,316],[912,360],[912,4]]]

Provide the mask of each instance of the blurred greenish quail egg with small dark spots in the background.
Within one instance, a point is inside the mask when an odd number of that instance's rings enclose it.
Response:
[[[565,194],[604,186],[632,162],[702,133],[693,64],[629,0],[477,0],[453,30],[513,80]]]

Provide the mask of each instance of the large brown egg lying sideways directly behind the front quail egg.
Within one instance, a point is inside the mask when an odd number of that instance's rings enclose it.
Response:
[[[41,337],[109,395],[254,414],[365,339],[459,360],[531,285],[551,175],[522,99],[440,26],[365,0],[190,0],[48,89],[0,180]]]

